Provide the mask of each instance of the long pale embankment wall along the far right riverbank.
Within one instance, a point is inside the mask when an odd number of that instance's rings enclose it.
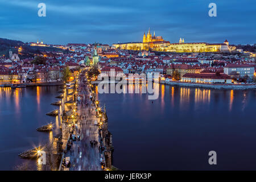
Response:
[[[204,84],[204,83],[191,83],[191,82],[181,82],[181,81],[160,81],[160,83],[166,84],[166,85],[192,86],[192,87],[212,88],[212,89],[237,89],[237,90],[256,89],[256,84]]]

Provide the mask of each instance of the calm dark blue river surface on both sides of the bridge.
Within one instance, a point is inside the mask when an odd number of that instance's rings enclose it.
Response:
[[[158,85],[147,94],[98,94],[113,134],[114,166],[122,170],[256,169],[255,90],[213,90]],[[59,86],[0,88],[0,169],[27,160],[18,154],[59,131],[48,111]],[[55,123],[53,133],[36,128]],[[208,152],[217,152],[217,165]],[[35,162],[32,162],[35,164]]]

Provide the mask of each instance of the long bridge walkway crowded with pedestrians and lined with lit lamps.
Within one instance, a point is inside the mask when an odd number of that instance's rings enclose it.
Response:
[[[109,156],[110,151],[107,151],[106,136],[102,134],[102,127],[107,122],[106,114],[95,99],[93,85],[85,77],[85,71],[77,77],[75,86],[74,105],[77,110],[73,109],[73,117],[67,119],[69,130],[63,129],[63,135],[68,135],[68,139],[61,170],[106,170],[112,165],[111,161],[106,164],[105,156]]]

